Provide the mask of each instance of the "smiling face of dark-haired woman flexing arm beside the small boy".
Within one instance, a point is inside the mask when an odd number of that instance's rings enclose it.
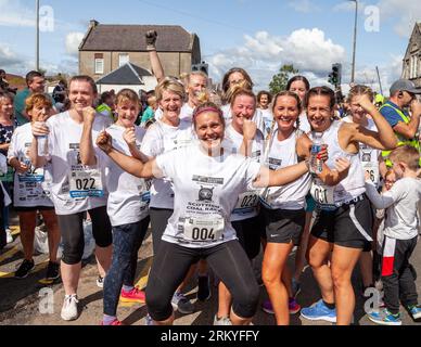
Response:
[[[333,112],[329,95],[311,95],[308,99],[307,117],[312,130],[323,132],[329,129]]]

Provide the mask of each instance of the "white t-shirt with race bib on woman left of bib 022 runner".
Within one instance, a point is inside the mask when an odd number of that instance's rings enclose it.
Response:
[[[51,164],[35,169],[30,164],[29,150],[33,142],[33,129],[30,123],[17,127],[13,132],[10,143],[8,159],[16,158],[21,163],[30,166],[30,169],[20,175],[14,174],[13,203],[16,207],[53,207],[51,196]]]

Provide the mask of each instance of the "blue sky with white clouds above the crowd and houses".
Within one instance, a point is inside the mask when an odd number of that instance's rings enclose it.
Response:
[[[421,21],[417,3],[359,1],[357,82],[379,89],[377,65],[384,89],[400,76],[413,24]],[[349,81],[352,1],[40,0],[40,5],[53,10],[53,22],[48,21],[47,12],[41,13],[47,28],[54,24],[53,30],[42,30],[40,38],[40,65],[49,73],[77,73],[77,46],[89,20],[95,18],[102,24],[176,24],[196,33],[216,81],[226,69],[242,66],[251,73],[256,89],[264,89],[282,64],[294,63],[312,85],[321,85],[335,62],[344,66],[344,83]],[[379,13],[379,28],[374,25],[367,30],[367,24],[375,18],[373,9]],[[10,73],[24,75],[34,67],[34,17],[35,0],[0,0],[0,67]]]

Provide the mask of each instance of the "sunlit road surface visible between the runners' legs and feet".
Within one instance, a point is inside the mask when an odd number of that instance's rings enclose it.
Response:
[[[42,279],[48,265],[48,255],[35,256],[36,269],[26,279],[13,278],[13,272],[23,259],[20,242],[20,229],[17,218],[12,214],[12,230],[14,242],[0,250],[0,325],[99,325],[102,319],[102,290],[95,284],[98,271],[94,257],[91,256],[82,262],[79,282],[78,297],[80,316],[76,321],[65,322],[60,318],[61,306],[64,298],[62,283],[44,284]],[[261,254],[259,258],[261,259]],[[255,261],[258,264],[259,261]],[[293,262],[294,254],[290,257]],[[148,274],[153,261],[152,236],[150,232],[139,250],[137,285],[144,287],[148,283]],[[418,244],[412,265],[421,273],[421,245]],[[354,320],[356,325],[374,325],[363,312],[365,298],[361,293],[360,275],[358,267],[353,274],[353,284],[356,292],[356,309]],[[417,279],[418,293],[421,292],[421,278]],[[217,287],[213,281],[212,298],[206,303],[196,300],[196,281],[192,279],[188,286],[187,296],[193,301],[195,312],[180,314],[176,312],[177,325],[212,325],[217,310]],[[260,304],[267,298],[264,287],[260,291]],[[302,275],[302,292],[297,301],[302,307],[310,306],[320,298],[320,292],[312,278],[311,269],[305,268]],[[259,306],[260,307],[260,306]],[[118,318],[130,325],[143,325],[146,316],[145,305],[122,304],[118,306]],[[404,325],[420,325],[414,322],[407,311],[401,308]],[[253,320],[255,325],[273,325],[275,318],[265,313],[260,308]],[[323,321],[308,321],[299,317],[299,313],[291,316],[291,325],[331,325]]]

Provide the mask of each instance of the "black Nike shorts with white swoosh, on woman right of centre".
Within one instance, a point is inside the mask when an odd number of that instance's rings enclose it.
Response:
[[[268,243],[299,244],[306,222],[304,209],[269,209],[261,207]]]

